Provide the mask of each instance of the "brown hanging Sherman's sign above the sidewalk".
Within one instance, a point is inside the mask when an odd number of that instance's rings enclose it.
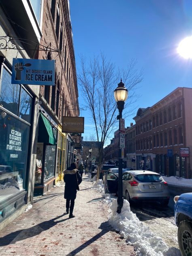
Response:
[[[62,132],[84,132],[84,117],[63,117]]]

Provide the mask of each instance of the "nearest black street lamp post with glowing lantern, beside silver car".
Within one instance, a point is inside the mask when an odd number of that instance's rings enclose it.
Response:
[[[120,130],[121,130],[121,119],[122,111],[124,109],[124,104],[128,96],[128,90],[125,88],[124,83],[118,83],[118,87],[114,90],[114,97],[117,102],[117,109],[119,110],[119,115],[117,115],[117,120],[119,120],[119,168],[118,168],[118,197],[117,197],[117,213],[121,213],[123,207],[123,179],[122,179],[122,148],[120,147]]]

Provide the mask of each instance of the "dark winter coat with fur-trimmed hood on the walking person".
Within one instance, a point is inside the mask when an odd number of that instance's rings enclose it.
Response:
[[[81,175],[77,169],[65,170],[64,171],[64,181],[65,181],[65,199],[75,199],[77,190],[79,190],[79,184],[82,181]]]

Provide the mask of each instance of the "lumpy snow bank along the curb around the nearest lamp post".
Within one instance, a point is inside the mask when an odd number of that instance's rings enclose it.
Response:
[[[117,213],[117,198],[104,193],[102,180],[93,183],[92,188],[102,193],[104,202],[109,204],[109,223],[126,239],[128,245],[134,246],[137,256],[181,256],[179,250],[167,247],[161,237],[152,233],[140,222],[136,214],[130,210],[127,200],[124,200],[122,211]]]

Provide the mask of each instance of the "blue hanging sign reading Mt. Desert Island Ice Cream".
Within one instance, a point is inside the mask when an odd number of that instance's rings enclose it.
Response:
[[[13,58],[11,83],[55,85],[55,60]]]

